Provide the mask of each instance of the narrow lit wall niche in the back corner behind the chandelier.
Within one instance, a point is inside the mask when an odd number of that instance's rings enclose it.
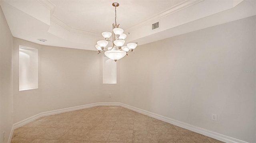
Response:
[[[103,84],[116,84],[116,62],[106,56],[102,59]]]

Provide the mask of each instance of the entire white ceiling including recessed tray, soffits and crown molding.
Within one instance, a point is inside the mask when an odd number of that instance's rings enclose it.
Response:
[[[126,43],[138,45],[256,15],[255,0],[1,0],[12,35],[42,45],[96,50],[112,31],[113,2]],[[160,29],[151,25],[160,21]],[[47,39],[42,42],[37,39]]]

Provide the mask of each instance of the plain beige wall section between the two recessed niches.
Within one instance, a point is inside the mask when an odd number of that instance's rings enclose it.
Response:
[[[43,46],[41,58],[42,112],[99,102],[97,51]]]

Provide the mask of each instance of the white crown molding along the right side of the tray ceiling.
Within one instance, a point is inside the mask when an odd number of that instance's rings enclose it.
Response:
[[[184,2],[181,2],[179,4],[176,4],[176,5],[172,6],[168,10],[160,12],[160,13],[158,13],[158,14],[156,14],[156,15],[154,15],[154,16],[152,16],[152,17],[150,17],[150,18],[148,18],[148,19],[146,19],[142,22],[140,22],[139,24],[136,24],[132,27],[129,27],[129,28],[125,29],[125,31],[129,32],[129,31],[132,31],[132,30],[137,29],[139,27],[142,27],[146,24],[156,22],[157,20],[160,20],[161,18],[163,18],[165,16],[168,16],[170,14],[178,12],[178,11],[184,9],[184,8],[187,8],[189,6],[192,6],[192,5],[197,4],[199,2],[202,2],[202,1],[204,1],[204,0],[186,0]]]

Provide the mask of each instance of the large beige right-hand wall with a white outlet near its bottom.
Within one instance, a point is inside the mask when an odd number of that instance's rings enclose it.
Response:
[[[256,143],[255,42],[253,16],[138,46],[120,60],[120,102]]]

